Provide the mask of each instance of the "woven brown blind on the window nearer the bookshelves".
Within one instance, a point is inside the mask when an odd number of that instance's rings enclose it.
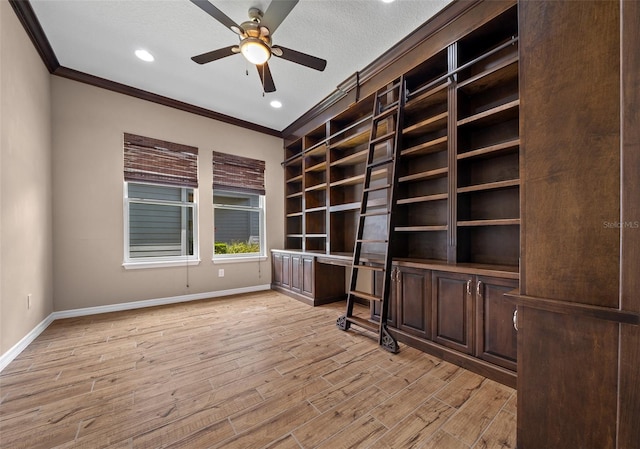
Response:
[[[213,152],[213,188],[264,195],[264,161]]]

